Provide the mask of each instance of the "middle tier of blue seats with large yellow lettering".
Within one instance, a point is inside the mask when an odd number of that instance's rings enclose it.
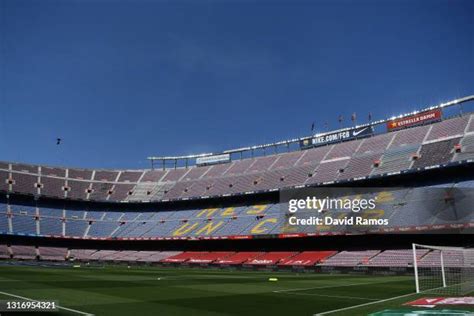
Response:
[[[471,187],[472,181],[443,183],[440,188]],[[436,188],[438,186],[435,186]],[[469,224],[474,222],[469,200],[456,206],[446,204],[444,191],[432,187],[397,188],[377,192],[378,209],[390,218],[384,228],[415,229],[418,226]],[[8,212],[10,209],[10,213]],[[280,204],[235,205],[192,210],[162,210],[143,206],[141,211],[67,209],[37,206],[0,205],[0,231],[20,235],[65,236],[74,238],[205,238],[277,235],[282,233],[325,232],[314,225],[289,226]],[[3,210],[3,213],[2,213]],[[344,213],[343,210],[340,212]],[[345,211],[345,216],[350,215]],[[341,216],[343,215],[341,213]],[[300,212],[300,216],[314,216]],[[324,214],[316,214],[324,216]],[[372,229],[377,228],[376,226]],[[344,226],[331,228],[346,233]],[[348,231],[350,232],[350,231]],[[361,228],[358,232],[364,232]]]

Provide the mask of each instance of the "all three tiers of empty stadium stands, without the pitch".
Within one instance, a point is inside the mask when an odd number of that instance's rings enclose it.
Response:
[[[344,195],[375,197],[377,208],[370,214],[371,219],[390,219],[388,225],[361,225],[355,231],[349,225],[289,225],[288,218],[293,215],[283,211],[285,203],[272,193],[287,188],[343,186],[361,180],[375,182],[387,177],[397,179],[397,175],[402,178],[420,172],[428,174],[428,170],[435,168],[470,166],[474,159],[474,115],[301,147],[290,150],[288,146],[285,152],[275,148],[263,156],[254,156],[252,151],[245,157],[241,154],[240,159],[210,165],[188,166],[186,162],[185,167],[175,164],[174,168],[167,168],[169,165],[163,162],[163,169],[159,170],[89,170],[0,162],[0,235],[30,241],[2,241],[0,259],[54,264],[79,261],[212,265],[255,270],[410,268],[412,250],[386,249],[380,245],[344,249],[329,244],[321,248],[325,250],[287,247],[279,251],[266,247],[210,251],[159,245],[113,250],[117,247],[103,249],[95,245],[117,241],[150,245],[170,240],[257,243],[289,237],[432,233],[474,227],[469,201],[450,202],[451,195],[458,192],[451,189],[474,187],[474,180],[467,176],[441,181],[424,179],[419,185],[405,183],[378,192]],[[344,208],[334,211],[338,218],[357,215]],[[303,210],[298,216],[324,218],[327,214]],[[58,243],[48,247],[31,242],[45,239]],[[83,244],[69,247],[72,241]],[[439,266],[437,250],[420,251],[418,256],[420,266]],[[445,263],[456,267],[462,258],[453,253]]]

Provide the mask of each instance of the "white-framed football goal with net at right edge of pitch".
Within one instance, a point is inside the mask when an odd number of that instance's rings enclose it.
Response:
[[[413,244],[416,292],[465,295],[474,291],[474,248]]]

